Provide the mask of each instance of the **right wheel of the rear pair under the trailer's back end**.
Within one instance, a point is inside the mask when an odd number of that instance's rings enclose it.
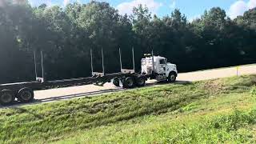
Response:
[[[18,90],[17,98],[21,102],[31,102],[34,99],[34,91],[30,88]]]

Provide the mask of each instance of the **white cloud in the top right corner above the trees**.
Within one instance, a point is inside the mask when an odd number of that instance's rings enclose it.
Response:
[[[230,6],[228,10],[228,15],[231,19],[237,18],[239,15],[242,15],[246,10],[250,10],[256,6],[256,0],[250,0],[245,2],[243,0],[238,0]]]

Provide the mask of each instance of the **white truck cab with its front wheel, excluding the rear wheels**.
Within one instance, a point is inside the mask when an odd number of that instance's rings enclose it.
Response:
[[[175,64],[167,62],[167,58],[151,56],[142,58],[142,74],[159,82],[174,82],[178,75],[178,70]]]

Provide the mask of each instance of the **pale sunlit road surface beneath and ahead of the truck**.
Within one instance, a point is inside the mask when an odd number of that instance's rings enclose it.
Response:
[[[238,69],[238,70],[237,70]],[[226,78],[242,74],[256,74],[256,65],[239,66],[222,68],[215,70],[203,70],[189,73],[178,74],[178,81],[202,81],[214,78]],[[155,81],[148,81],[147,83],[154,84]],[[123,90],[120,87],[113,86],[111,83],[106,83],[105,86],[72,86],[66,88],[52,89],[52,90],[38,90],[35,91],[35,99],[38,102],[51,102],[63,99],[78,98],[86,95],[105,94],[109,92]]]

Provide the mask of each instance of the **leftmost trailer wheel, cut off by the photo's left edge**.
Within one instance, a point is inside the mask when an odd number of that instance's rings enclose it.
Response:
[[[2,90],[0,92],[0,103],[4,106],[10,105],[14,102],[14,93],[11,90]]]

